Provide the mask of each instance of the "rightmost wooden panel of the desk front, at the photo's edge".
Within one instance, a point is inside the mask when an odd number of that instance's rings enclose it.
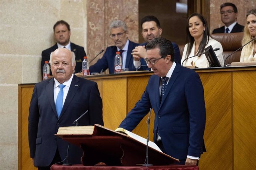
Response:
[[[234,72],[234,169],[256,169],[256,72]]]

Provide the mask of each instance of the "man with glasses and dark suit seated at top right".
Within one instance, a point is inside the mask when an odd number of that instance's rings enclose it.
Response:
[[[243,32],[244,26],[237,23],[237,7],[233,3],[224,3],[220,6],[221,21],[225,26],[213,30],[216,33]]]

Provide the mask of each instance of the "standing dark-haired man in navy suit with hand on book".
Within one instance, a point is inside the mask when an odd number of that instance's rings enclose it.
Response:
[[[154,110],[154,142],[181,161],[197,164],[205,151],[206,110],[199,75],[174,62],[171,41],[154,38],[147,46],[148,67],[154,71],[140,101],[119,127],[132,131],[150,108]]]

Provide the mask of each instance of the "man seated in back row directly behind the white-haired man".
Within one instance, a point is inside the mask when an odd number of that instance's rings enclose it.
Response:
[[[41,76],[43,75],[43,65],[45,64],[45,61],[49,61],[51,52],[55,51],[57,48],[62,47],[65,47],[75,53],[76,67],[74,73],[80,72],[82,69],[83,57],[86,56],[86,54],[83,47],[70,42],[71,31],[69,24],[63,20],[57,21],[53,26],[53,32],[57,43],[52,47],[42,51]],[[51,70],[50,75],[52,75]]]

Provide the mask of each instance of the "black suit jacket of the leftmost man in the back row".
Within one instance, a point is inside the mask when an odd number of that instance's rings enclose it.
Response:
[[[85,49],[79,45],[76,45],[74,43],[70,43],[71,51],[75,53],[76,55],[76,67],[75,67],[75,73],[80,72],[82,69],[82,61],[83,57],[86,56]],[[43,76],[43,65],[45,64],[45,61],[50,60],[50,54],[51,52],[55,51],[58,48],[57,43],[53,45],[52,47],[43,50],[42,51],[42,60],[41,60],[41,76]],[[52,75],[52,71],[50,70],[50,75]]]

